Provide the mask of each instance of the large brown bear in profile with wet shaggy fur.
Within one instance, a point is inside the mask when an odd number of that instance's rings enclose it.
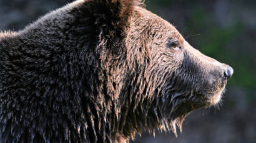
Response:
[[[182,130],[234,70],[139,0],[77,0],[0,33],[0,142],[129,142]]]

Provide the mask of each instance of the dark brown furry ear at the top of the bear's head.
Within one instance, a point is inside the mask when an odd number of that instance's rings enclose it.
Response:
[[[111,25],[124,25],[132,14],[135,6],[142,5],[140,0],[92,0],[96,4],[94,16],[99,21],[105,21]]]

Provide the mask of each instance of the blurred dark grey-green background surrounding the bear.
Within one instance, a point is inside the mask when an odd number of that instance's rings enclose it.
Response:
[[[0,0],[0,30],[20,30],[71,0]],[[182,133],[145,132],[140,142],[256,142],[256,1],[145,0],[205,55],[234,68],[222,106],[199,109]]]

